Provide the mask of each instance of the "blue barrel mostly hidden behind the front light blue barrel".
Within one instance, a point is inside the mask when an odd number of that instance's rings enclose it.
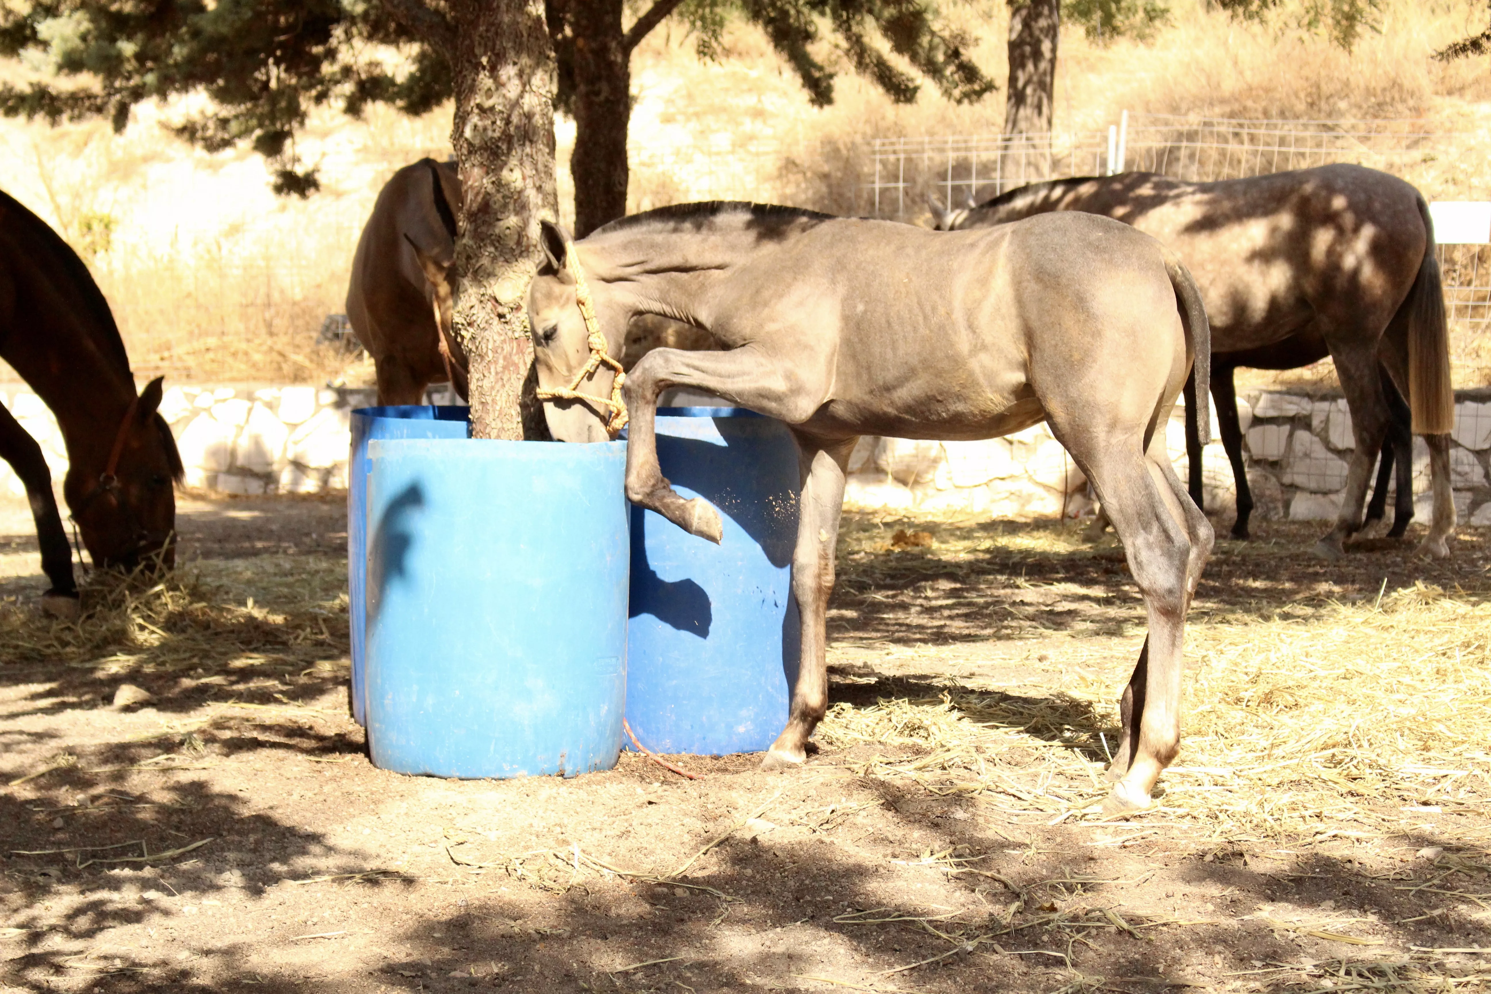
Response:
[[[364,724],[362,636],[367,624],[367,498],[370,438],[465,438],[470,407],[359,407],[352,411],[347,459],[347,615],[352,626],[352,717]]]

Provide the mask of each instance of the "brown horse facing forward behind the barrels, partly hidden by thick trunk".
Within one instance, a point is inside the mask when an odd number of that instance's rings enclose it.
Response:
[[[379,404],[420,404],[431,383],[467,395],[467,359],[450,334],[450,265],[461,177],[425,158],[379,191],[358,238],[347,319],[377,367]]]

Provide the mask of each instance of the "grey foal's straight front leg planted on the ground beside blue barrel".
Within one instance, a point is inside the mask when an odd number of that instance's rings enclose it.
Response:
[[[807,757],[808,736],[829,706],[828,605],[833,593],[833,553],[844,510],[848,456],[857,438],[828,446],[798,434],[802,499],[798,505],[798,545],[792,553],[792,596],[802,618],[802,662],[792,688],[792,709],[765,769],[784,769]]]

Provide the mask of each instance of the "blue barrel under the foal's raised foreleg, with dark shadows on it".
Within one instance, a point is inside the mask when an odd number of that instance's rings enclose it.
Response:
[[[765,750],[798,674],[798,446],[747,410],[668,407],[658,460],[678,493],[719,508],[725,536],[632,508],[628,724],[656,753]]]

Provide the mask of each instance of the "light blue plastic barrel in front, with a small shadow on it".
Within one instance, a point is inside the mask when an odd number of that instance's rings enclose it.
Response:
[[[626,446],[368,443],[367,735],[435,776],[610,769],[626,702]]]

